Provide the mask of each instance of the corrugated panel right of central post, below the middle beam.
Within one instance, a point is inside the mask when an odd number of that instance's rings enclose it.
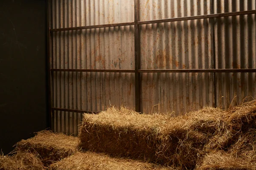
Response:
[[[143,112],[184,114],[214,105],[212,73],[143,73]]]

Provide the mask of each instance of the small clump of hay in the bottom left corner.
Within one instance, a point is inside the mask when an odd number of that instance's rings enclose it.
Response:
[[[0,156],[0,170],[45,170],[38,155],[29,152]]]

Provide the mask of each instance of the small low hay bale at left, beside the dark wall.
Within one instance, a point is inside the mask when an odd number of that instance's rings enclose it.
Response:
[[[38,154],[42,162],[48,166],[53,161],[59,161],[73,155],[78,150],[79,139],[62,133],[52,133],[44,130],[36,133],[35,137],[21,140],[15,150]]]

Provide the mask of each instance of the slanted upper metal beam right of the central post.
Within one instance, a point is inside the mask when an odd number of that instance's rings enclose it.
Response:
[[[207,14],[207,15],[198,15],[198,16],[191,16],[191,17],[177,17],[177,18],[168,18],[168,19],[160,19],[160,20],[140,21],[140,22],[138,22],[138,24],[143,25],[143,24],[167,23],[167,22],[186,21],[186,20],[200,20],[200,19],[206,19],[206,18],[230,17],[230,16],[247,15],[247,14],[256,14],[256,10],[227,12],[227,13],[220,13],[220,14]]]

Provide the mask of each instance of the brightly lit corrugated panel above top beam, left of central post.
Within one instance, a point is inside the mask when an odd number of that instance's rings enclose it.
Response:
[[[134,21],[134,0],[52,0],[52,28]]]

